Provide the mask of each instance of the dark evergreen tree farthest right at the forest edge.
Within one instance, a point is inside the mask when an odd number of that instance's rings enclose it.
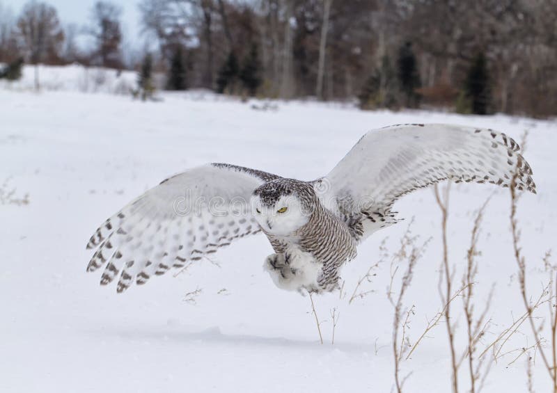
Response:
[[[466,83],[464,93],[469,99],[470,111],[476,115],[487,115],[491,106],[491,90],[489,88],[489,72],[487,60],[483,53],[474,58]]]

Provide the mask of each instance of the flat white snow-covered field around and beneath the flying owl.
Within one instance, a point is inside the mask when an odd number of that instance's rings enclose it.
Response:
[[[78,89],[74,89],[78,90]],[[405,122],[492,127],[520,140],[529,130],[526,159],[538,195],[519,201],[528,284],[538,296],[546,276],[542,257],[556,246],[555,122],[460,116],[424,111],[363,112],[350,106],[217,99],[208,93],[164,94],[164,102],[79,91],[0,90],[0,184],[29,193],[29,204],[0,204],[0,392],[391,392],[393,307],[386,298],[389,262],[379,264],[372,291],[349,304],[359,278],[379,259],[379,245],[397,250],[412,217],[412,232],[432,237],[418,261],[405,305],[415,306],[408,334],[415,342],[442,304],[441,214],[431,189],[400,200],[405,222],[377,232],[343,270],[346,295],[314,296],[320,344],[306,296],[277,289],[262,262],[272,248],[253,236],[173,277],[117,295],[86,273],[86,242],[102,221],[162,179],[211,161],[235,163],[285,177],[315,179],[360,136]],[[492,195],[478,241],[478,310],[495,285],[492,325],[480,351],[524,313],[512,256],[508,190],[453,186],[448,243],[460,283],[475,211]],[[217,266],[217,263],[219,266]],[[400,271],[405,266],[400,267]],[[395,284],[400,274],[395,276]],[[186,294],[197,291],[196,296]],[[340,316],[331,344],[331,310]],[[543,312],[546,311],[544,307]],[[453,302],[457,352],[466,349],[462,300]],[[549,338],[549,332],[544,331]],[[405,392],[450,392],[444,324],[430,330],[401,375]],[[526,392],[526,323],[492,364],[483,392]],[[546,344],[547,345],[547,344]],[[533,351],[531,351],[533,355]],[[512,362],[512,364],[510,364]],[[509,365],[510,364],[510,365]],[[466,362],[460,390],[469,389]],[[539,356],[537,392],[549,391]]]

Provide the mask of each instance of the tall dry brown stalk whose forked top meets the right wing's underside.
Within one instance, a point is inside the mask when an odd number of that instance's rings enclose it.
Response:
[[[439,205],[439,209],[441,209],[441,232],[443,238],[443,261],[441,262],[441,276],[439,277],[439,294],[441,296],[441,300],[443,304],[446,304],[446,327],[447,327],[447,334],[448,334],[448,342],[450,348],[450,362],[452,366],[452,379],[453,379],[453,393],[458,392],[458,364],[456,358],[456,351],[455,351],[455,328],[450,323],[450,299],[451,294],[453,293],[453,275],[450,273],[450,267],[448,264],[448,245],[447,245],[447,220],[448,220],[448,207],[449,207],[449,192],[450,192],[450,182],[447,184],[444,196],[441,198],[441,194],[439,193],[439,187],[435,184],[435,200]],[[444,280],[445,280],[445,288],[444,291],[441,289],[442,285],[442,273],[444,273]]]

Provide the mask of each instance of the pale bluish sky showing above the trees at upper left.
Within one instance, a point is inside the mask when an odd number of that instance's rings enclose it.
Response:
[[[58,10],[58,17],[63,25],[76,23],[84,25],[88,23],[91,16],[91,8],[95,0],[41,0],[49,3]],[[113,0],[111,3],[118,4],[122,8],[123,33],[127,42],[139,44],[139,10],[137,4],[140,0]],[[17,17],[21,12],[26,0],[0,0],[0,5],[11,8]]]

